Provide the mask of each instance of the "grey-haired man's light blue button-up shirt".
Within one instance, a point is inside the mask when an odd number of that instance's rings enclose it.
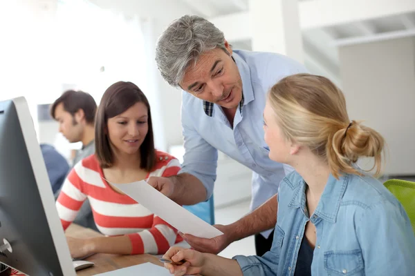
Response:
[[[233,50],[232,57],[243,87],[243,106],[237,108],[233,126],[220,106],[213,106],[210,117],[204,110],[203,100],[183,91],[181,120],[185,155],[180,172],[201,180],[209,198],[216,180],[217,150],[221,150],[252,170],[250,208],[253,210],[277,193],[279,182],[286,175],[282,164],[269,159],[264,141],[266,94],[280,79],[307,71],[297,61],[270,52]],[[270,232],[264,236],[268,237]]]

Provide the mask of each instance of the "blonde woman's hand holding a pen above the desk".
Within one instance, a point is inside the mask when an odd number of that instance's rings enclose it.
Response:
[[[205,256],[193,249],[171,247],[163,256],[163,259],[171,259],[174,263],[165,264],[170,273],[175,276],[199,275],[205,264]]]

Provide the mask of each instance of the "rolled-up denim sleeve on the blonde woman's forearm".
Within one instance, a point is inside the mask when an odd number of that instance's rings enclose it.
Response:
[[[262,257],[237,255],[232,259],[237,260],[244,276],[277,275],[279,258],[271,251],[268,251]]]

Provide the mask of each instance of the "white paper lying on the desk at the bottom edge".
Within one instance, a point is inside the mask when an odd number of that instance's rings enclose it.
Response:
[[[127,268],[121,268],[106,273],[97,274],[95,276],[172,276],[169,270],[163,266],[156,266],[155,264],[145,263],[138,264],[137,266],[129,266]]]

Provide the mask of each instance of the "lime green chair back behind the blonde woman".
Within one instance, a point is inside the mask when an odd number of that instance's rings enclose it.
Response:
[[[415,182],[390,179],[383,184],[400,201],[415,233]]]

